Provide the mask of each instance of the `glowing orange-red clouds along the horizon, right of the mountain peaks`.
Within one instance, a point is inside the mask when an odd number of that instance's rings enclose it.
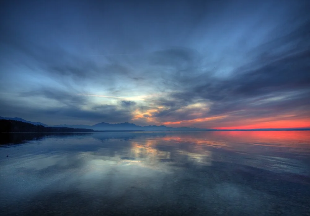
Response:
[[[165,109],[164,106],[156,106],[148,110],[137,108],[132,112],[133,121],[144,121],[146,124],[166,125],[171,127],[196,127],[196,128],[214,128],[214,129],[258,129],[258,128],[310,128],[310,119],[306,117],[301,119],[300,114],[297,115],[294,112],[275,115],[268,118],[246,118],[242,116],[242,112],[227,113],[225,115],[210,116],[206,118],[200,118],[209,111],[210,103],[203,104],[197,102],[186,107],[182,107],[175,112],[179,112],[179,115],[184,111],[190,113],[190,120],[170,120],[162,121],[161,118],[154,116],[155,113],[159,113]],[[193,111],[193,112],[189,112]]]

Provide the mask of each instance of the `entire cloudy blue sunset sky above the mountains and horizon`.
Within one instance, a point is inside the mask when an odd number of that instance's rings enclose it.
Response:
[[[3,1],[0,116],[310,127],[310,1]]]

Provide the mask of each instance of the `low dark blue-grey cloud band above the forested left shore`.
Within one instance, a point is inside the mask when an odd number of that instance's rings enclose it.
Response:
[[[35,94],[38,95],[38,94]],[[41,94],[40,94],[41,95]],[[1,111],[6,116],[20,116],[22,118],[32,119],[32,118],[40,118],[42,121],[44,119],[48,120],[53,124],[66,124],[67,121],[78,120],[81,122],[108,122],[108,123],[119,123],[123,121],[130,121],[132,118],[131,112],[129,109],[120,109],[115,105],[93,105],[88,104],[88,109],[83,108],[82,105],[87,105],[85,99],[83,97],[60,97],[55,94],[45,94],[45,96],[49,96],[49,98],[57,100],[60,102],[60,105],[56,107],[48,104],[47,107],[31,107],[25,104],[19,103],[15,104],[10,101],[2,100],[1,104],[3,105]],[[85,102],[83,104],[83,102]],[[54,102],[55,103],[55,102]],[[54,117],[57,117],[55,121],[51,120]]]

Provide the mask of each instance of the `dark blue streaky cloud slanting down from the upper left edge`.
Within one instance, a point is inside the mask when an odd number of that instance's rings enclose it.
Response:
[[[23,34],[23,32],[10,32],[6,29],[5,34],[1,36],[0,41],[5,44],[4,49],[13,49],[19,53],[17,61],[16,57],[12,58],[12,56],[10,60],[12,59],[16,65],[26,65],[32,70],[41,70],[42,74],[47,74],[60,82],[72,78],[78,83],[91,80],[112,84],[117,74],[126,75],[130,72],[117,59],[109,58],[105,60],[105,64],[102,64],[100,59],[71,53],[57,45],[51,47],[40,44],[34,38],[27,39]],[[20,37],[23,39],[21,40]],[[10,53],[8,52],[9,55]]]

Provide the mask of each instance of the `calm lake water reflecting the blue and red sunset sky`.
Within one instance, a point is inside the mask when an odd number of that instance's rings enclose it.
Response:
[[[2,215],[310,215],[310,131],[16,133],[0,144]]]

